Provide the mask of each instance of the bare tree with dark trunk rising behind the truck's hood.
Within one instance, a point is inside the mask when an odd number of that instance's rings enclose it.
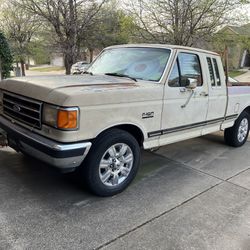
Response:
[[[64,55],[66,74],[70,74],[78,52],[79,36],[88,29],[106,1],[22,0],[18,4],[53,27],[57,44]]]

